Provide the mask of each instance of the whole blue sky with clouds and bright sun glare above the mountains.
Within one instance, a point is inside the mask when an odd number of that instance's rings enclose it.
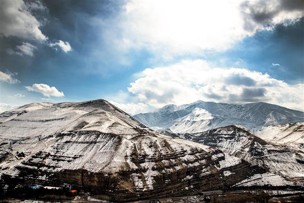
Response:
[[[0,1],[1,112],[106,99],[304,111],[303,1]]]

